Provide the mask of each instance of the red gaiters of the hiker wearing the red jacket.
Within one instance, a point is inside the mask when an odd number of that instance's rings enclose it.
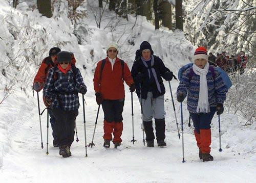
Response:
[[[114,135],[113,142],[122,142],[121,135],[123,132],[123,122],[108,122],[104,120],[104,136],[103,139],[112,140],[112,133]]]

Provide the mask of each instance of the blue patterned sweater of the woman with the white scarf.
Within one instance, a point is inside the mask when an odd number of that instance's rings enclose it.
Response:
[[[199,99],[200,76],[194,71],[192,67],[185,70],[182,74],[180,85],[177,89],[177,96],[179,94],[187,95],[187,110],[190,113],[197,113],[197,105]],[[224,103],[226,100],[227,87],[224,84],[220,73],[214,69],[215,78],[210,69],[206,75],[208,85],[208,101],[209,106],[216,107],[217,103]],[[193,74],[191,74],[193,73]]]

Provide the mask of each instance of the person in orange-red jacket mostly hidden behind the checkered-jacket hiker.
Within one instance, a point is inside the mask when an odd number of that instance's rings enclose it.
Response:
[[[49,56],[46,57],[44,60],[42,60],[42,63],[37,71],[37,74],[35,75],[35,79],[33,82],[33,89],[37,92],[39,92],[45,85],[46,78],[48,75],[48,71],[50,68],[54,67],[57,64],[57,54],[60,52],[60,48],[58,47],[52,47],[49,51]],[[76,60],[74,55],[71,55],[71,63],[75,65]],[[45,102],[45,99],[44,99]],[[45,103],[46,104],[46,103]],[[49,112],[50,115],[50,123],[52,126],[52,136],[53,136],[53,146],[57,147],[57,133],[55,130],[55,118]]]

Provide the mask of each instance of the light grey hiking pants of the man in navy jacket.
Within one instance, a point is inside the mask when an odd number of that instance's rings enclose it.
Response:
[[[141,103],[141,98],[139,98]],[[164,95],[153,98],[152,92],[147,92],[147,98],[142,98],[143,121],[152,121],[155,119],[163,119],[164,111]]]

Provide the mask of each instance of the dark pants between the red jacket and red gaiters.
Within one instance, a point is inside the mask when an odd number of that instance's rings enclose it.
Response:
[[[104,112],[104,120],[108,122],[121,122],[123,120],[124,99],[103,100],[101,105]]]

